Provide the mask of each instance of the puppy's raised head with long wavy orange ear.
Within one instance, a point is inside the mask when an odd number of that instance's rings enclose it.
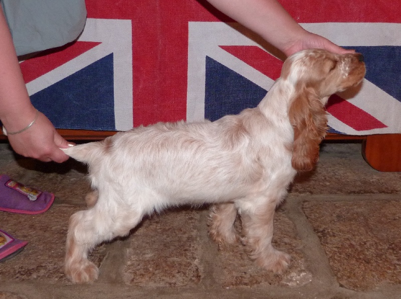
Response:
[[[281,78],[290,83],[294,96],[289,118],[294,127],[292,166],[311,170],[319,157],[319,144],[327,129],[324,105],[333,93],[359,84],[365,75],[359,53],[335,54],[307,49],[290,56]]]

